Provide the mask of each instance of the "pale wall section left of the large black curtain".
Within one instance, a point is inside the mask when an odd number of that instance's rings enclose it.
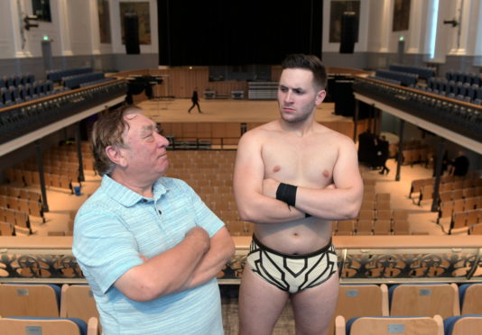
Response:
[[[122,0],[129,2],[129,0]],[[42,57],[42,39],[51,38],[52,56],[82,56],[125,53],[121,41],[119,3],[109,1],[111,44],[101,44],[98,32],[97,0],[51,0],[51,23],[39,22],[38,28],[21,29],[22,18],[32,14],[30,0],[2,0],[0,3],[0,59]],[[141,54],[158,53],[157,2],[149,2],[151,44],[141,45]],[[24,43],[22,39],[24,36]]]

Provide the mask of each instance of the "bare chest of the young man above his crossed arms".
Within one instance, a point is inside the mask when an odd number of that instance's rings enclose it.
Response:
[[[262,148],[264,178],[297,186],[324,187],[333,183],[338,145],[329,136],[307,138],[269,136]]]

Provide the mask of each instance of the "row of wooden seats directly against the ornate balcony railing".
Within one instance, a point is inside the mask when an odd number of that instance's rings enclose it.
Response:
[[[0,284],[4,317],[98,317],[88,285]],[[335,315],[451,316],[482,314],[482,284],[340,285]]]

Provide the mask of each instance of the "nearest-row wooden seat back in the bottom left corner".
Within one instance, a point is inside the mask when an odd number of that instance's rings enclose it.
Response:
[[[2,335],[88,335],[88,324],[65,318],[0,318]]]

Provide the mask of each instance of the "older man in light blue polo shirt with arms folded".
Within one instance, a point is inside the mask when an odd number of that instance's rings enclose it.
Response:
[[[223,333],[216,275],[234,244],[190,186],[162,177],[168,144],[134,106],[94,126],[102,183],[79,209],[72,250],[106,335]]]

